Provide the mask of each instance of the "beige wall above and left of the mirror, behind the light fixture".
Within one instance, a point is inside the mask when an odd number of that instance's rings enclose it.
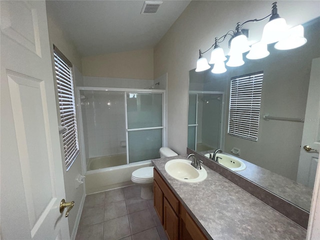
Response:
[[[272,1],[191,1],[154,48],[154,76],[168,76],[168,146],[184,153],[187,146],[188,71],[195,68],[198,49],[215,36],[234,29],[237,21],[266,16]],[[278,1],[278,13],[291,26],[318,16],[318,1]],[[248,23],[249,39],[257,41],[265,22]],[[224,47],[221,44],[221,47]],[[209,53],[205,54],[206,57]]]

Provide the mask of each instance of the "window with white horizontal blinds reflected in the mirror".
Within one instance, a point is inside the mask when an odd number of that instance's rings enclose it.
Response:
[[[228,134],[257,141],[263,71],[231,78]]]

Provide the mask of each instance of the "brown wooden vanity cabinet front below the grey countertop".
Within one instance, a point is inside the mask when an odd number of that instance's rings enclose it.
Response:
[[[153,205],[168,239],[207,239],[155,168],[153,176]]]

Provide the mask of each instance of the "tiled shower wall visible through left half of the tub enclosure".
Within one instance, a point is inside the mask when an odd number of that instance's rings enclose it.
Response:
[[[123,92],[85,91],[83,95],[87,98],[82,98],[81,108],[85,114],[88,157],[125,153]]]

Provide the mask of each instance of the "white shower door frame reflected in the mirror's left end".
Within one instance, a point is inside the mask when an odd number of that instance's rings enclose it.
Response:
[[[198,90],[190,90],[189,94],[196,94],[196,106],[195,106],[195,124],[188,124],[189,126],[195,126],[195,151],[196,151],[196,136],[197,136],[197,126],[198,126],[198,94],[220,94],[222,95],[221,102],[221,124],[220,124],[220,137],[219,137],[219,148],[224,149],[224,131],[225,131],[225,92],[224,91],[198,91]],[[189,109],[189,100],[188,100],[188,109]]]

